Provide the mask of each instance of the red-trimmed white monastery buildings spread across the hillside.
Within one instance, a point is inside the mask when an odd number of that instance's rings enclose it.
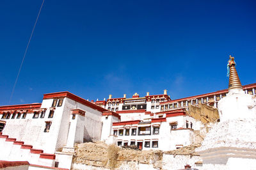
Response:
[[[255,95],[256,84],[243,89]],[[41,104],[1,106],[0,147],[5,152],[0,160],[26,158],[34,165],[70,169],[74,143],[105,141],[164,151],[187,146],[203,126],[186,114],[188,105],[216,107],[227,92],[171,100],[164,90],[162,95],[109,95],[89,102],[66,91],[45,94]]]

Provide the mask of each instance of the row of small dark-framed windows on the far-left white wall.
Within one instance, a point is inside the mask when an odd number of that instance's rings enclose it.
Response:
[[[45,111],[42,111],[41,113],[39,113],[39,112],[34,112],[33,118],[34,118],[34,119],[35,119],[35,118],[39,118],[39,114],[40,114],[40,118],[44,118],[44,116],[45,116]],[[54,111],[50,111],[50,112],[49,112],[49,115],[48,115],[48,118],[53,118],[53,114],[54,114]],[[17,115],[17,116],[16,116],[16,115]],[[27,113],[26,113],[26,112],[24,112],[23,114],[21,114],[20,112],[18,112],[18,113],[13,113],[11,119],[15,119],[15,116],[16,116],[16,119],[19,119],[19,118],[25,119],[26,116],[27,116]],[[4,114],[3,114],[3,116],[2,116],[1,119],[2,119],[2,120],[3,120],[3,119],[8,120],[8,119],[10,119],[10,117],[11,117],[11,113],[10,113],[10,112],[7,112],[7,113],[4,113]]]

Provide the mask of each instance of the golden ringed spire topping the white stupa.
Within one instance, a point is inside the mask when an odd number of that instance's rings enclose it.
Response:
[[[229,82],[228,82],[228,89],[235,89],[240,88],[243,89],[240,79],[237,75],[236,71],[236,62],[232,56],[229,56],[228,60],[228,67],[229,67]]]

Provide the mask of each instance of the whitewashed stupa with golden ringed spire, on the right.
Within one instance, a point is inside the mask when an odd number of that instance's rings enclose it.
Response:
[[[256,98],[244,93],[235,66],[230,56],[228,94],[218,103],[220,122],[196,150],[202,169],[256,169]]]

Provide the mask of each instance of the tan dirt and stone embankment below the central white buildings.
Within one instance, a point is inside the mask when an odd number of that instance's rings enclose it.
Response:
[[[163,158],[163,151],[119,148],[103,142],[76,144],[75,148],[74,163],[106,168],[119,167],[124,162],[140,162],[160,167]]]

